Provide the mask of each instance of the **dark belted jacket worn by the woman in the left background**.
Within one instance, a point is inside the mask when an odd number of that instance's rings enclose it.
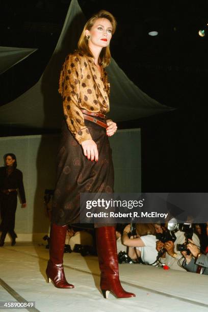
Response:
[[[22,172],[19,169],[14,169],[7,176],[7,167],[0,167],[0,190],[19,189],[21,202],[25,203],[25,193],[22,181]]]

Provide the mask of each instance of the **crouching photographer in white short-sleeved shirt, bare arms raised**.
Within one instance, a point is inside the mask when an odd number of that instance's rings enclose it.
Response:
[[[156,250],[155,229],[151,223],[137,223],[137,236],[128,237],[131,232],[131,226],[128,224],[122,235],[123,244],[128,246],[128,256],[132,259],[141,257],[145,264],[153,264],[156,261],[158,252]],[[135,248],[136,247],[136,250]],[[156,265],[156,263],[154,263]]]

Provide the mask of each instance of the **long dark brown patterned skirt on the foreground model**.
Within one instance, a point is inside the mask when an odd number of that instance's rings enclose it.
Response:
[[[85,157],[82,146],[64,121],[52,203],[52,221],[57,225],[80,223],[81,193],[114,192],[112,151],[106,129],[88,120],[85,124],[97,144],[98,162],[91,162]]]

